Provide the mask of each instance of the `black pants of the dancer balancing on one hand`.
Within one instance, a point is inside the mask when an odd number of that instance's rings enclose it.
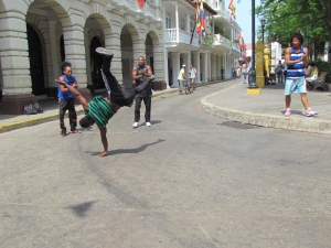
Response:
[[[111,57],[103,58],[103,79],[107,89],[107,95],[111,101],[118,104],[119,106],[132,106],[135,97],[137,94],[143,91],[149,85],[149,79],[146,78],[142,84],[138,85],[132,89],[124,89],[116,77],[110,72]]]

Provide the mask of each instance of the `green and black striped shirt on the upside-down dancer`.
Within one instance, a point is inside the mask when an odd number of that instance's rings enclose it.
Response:
[[[110,105],[102,96],[92,98],[88,104],[88,111],[85,115],[93,118],[98,128],[105,128],[108,120],[116,114]]]

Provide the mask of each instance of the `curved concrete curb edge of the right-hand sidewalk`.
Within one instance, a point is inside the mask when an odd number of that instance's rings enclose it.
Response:
[[[242,112],[238,110],[222,108],[220,106],[207,103],[207,97],[201,99],[201,108],[203,111],[242,123],[255,125],[266,128],[277,128],[293,131],[331,133],[331,122],[329,120],[320,120],[311,118],[292,118],[267,116],[254,112]]]

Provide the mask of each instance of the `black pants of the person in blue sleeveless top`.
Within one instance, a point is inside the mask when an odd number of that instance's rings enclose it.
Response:
[[[77,127],[77,115],[75,109],[75,99],[58,99],[58,107],[60,107],[60,128],[62,130],[66,130],[64,126],[64,115],[66,110],[70,111],[70,123],[71,123],[71,131],[76,130]]]

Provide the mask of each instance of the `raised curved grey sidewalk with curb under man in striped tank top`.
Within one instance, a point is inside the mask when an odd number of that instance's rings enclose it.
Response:
[[[319,111],[305,117],[300,95],[293,94],[291,116],[285,117],[284,84],[268,85],[260,95],[247,95],[247,85],[237,84],[201,99],[201,107],[211,115],[268,128],[331,133],[330,93],[308,91],[310,107]]]

